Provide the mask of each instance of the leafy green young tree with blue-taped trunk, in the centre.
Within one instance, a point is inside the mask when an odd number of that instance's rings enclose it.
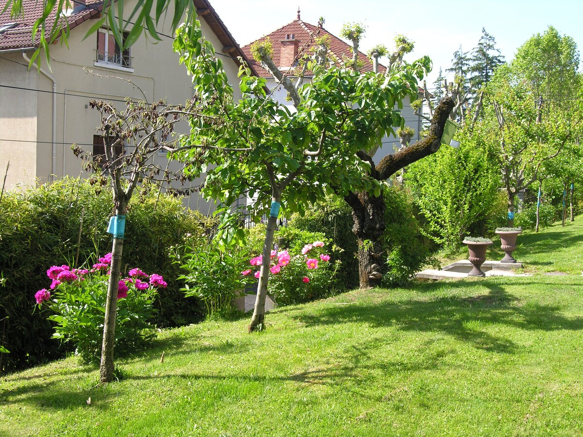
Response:
[[[212,74],[201,74],[215,62],[215,56],[210,44],[192,41],[190,34],[188,29],[178,31],[175,50],[192,74],[195,89],[212,94],[216,84],[226,83],[226,76],[219,68]],[[384,179],[375,178],[374,164],[363,150],[380,144],[385,133],[394,133],[394,125],[402,119],[396,105],[417,89],[417,79],[426,69],[426,62],[417,61],[389,75],[359,73],[345,64],[330,62],[325,48],[317,44],[305,68],[312,80],[301,84],[275,69],[269,43],[254,51],[289,91],[296,111],[291,112],[266,93],[265,79],[252,77],[248,69],[241,68],[241,100],[235,101],[230,87],[224,87],[223,97],[212,100],[203,117],[192,121],[192,136],[187,142],[201,145],[203,161],[213,164],[201,168],[195,161],[189,171],[207,171],[203,193],[222,203],[223,220],[229,220],[230,205],[241,196],[254,199],[255,219],[269,214],[250,331],[265,327],[269,259],[278,216],[303,213],[310,203],[333,192],[381,196],[389,174]],[[184,150],[178,156],[188,163],[199,158],[198,153]],[[411,147],[400,162],[405,165],[408,157],[423,153],[419,147]],[[391,159],[382,165],[387,171],[398,170]]]

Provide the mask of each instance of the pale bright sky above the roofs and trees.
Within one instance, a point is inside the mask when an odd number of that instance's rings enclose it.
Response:
[[[297,2],[211,0],[240,45],[296,19]],[[528,38],[543,33],[548,26],[572,37],[580,50],[583,47],[583,0],[300,0],[299,6],[302,20],[317,24],[323,16],[324,27],[336,35],[345,22],[364,23],[364,51],[377,44],[392,47],[394,36],[405,34],[415,41],[410,59],[429,55],[433,60],[428,87],[440,66],[445,70],[451,65],[459,45],[464,51],[476,47],[482,27],[496,38],[507,60]]]

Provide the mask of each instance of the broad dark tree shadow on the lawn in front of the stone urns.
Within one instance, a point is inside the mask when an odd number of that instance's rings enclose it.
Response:
[[[518,345],[484,327],[504,325],[545,331],[583,329],[583,318],[561,315],[560,306],[522,305],[503,286],[480,285],[486,287],[487,292],[468,297],[448,295],[430,300],[422,297],[399,302],[333,305],[317,313],[302,312],[299,317],[308,326],[367,322],[377,327],[394,326],[403,332],[441,332],[477,349],[497,353],[515,353]],[[458,281],[447,286],[464,287],[467,283]],[[434,287],[443,288],[444,284],[428,284],[423,288],[431,291]]]

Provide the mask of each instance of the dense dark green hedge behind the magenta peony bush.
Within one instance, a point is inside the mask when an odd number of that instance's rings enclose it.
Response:
[[[126,221],[123,270],[141,266],[167,278],[168,288],[154,301],[153,321],[158,325],[200,320],[196,299],[185,299],[180,291],[180,271],[168,252],[182,235],[201,234],[205,218],[185,212],[180,199],[158,197],[157,191],[134,197]],[[0,210],[0,346],[10,351],[0,354],[3,373],[64,354],[65,348],[51,340],[51,323],[31,315],[31,296],[45,283],[47,266],[95,262],[97,253],[111,250],[106,227],[113,203],[110,190],[100,184],[65,178],[4,193]]]

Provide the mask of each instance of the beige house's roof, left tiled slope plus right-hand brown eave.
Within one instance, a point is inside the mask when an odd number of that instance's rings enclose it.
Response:
[[[7,0],[0,0],[0,10],[4,8]],[[38,47],[40,42],[40,31],[36,37],[31,40],[31,31],[34,22],[43,13],[43,2],[40,0],[23,0],[24,16],[10,17],[10,10],[0,15],[0,52],[26,50]],[[235,38],[231,35],[215,9],[210,5],[208,0],[193,0],[196,7],[196,13],[202,17],[215,33],[222,47],[215,47],[216,51],[224,52],[240,64],[237,57],[245,58],[245,55]],[[85,6],[75,2],[73,12],[67,17],[69,29],[74,29],[79,24],[99,17],[103,9],[103,0],[86,0]],[[52,12],[47,18],[47,23],[52,23],[55,12]],[[8,26],[8,25],[11,26]]]

